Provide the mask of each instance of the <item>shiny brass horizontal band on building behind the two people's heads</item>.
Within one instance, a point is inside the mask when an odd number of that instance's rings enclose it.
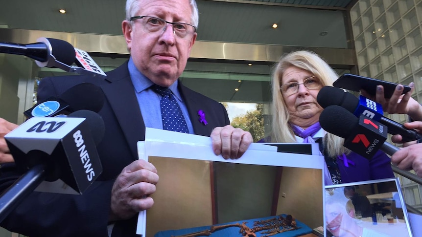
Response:
[[[35,43],[38,38],[54,38],[69,42],[74,47],[94,53],[128,55],[123,36],[52,32],[0,28],[0,41]],[[318,53],[328,64],[350,68],[355,64],[354,50],[344,48],[314,48],[283,45],[246,43],[222,43],[197,41],[190,54],[191,59],[238,60],[253,62],[276,62],[284,53],[307,49]]]

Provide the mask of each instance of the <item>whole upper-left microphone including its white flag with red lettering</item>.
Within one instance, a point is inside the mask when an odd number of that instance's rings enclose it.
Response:
[[[67,72],[107,77],[87,52],[62,40],[42,37],[37,39],[37,43],[29,44],[1,42],[0,53],[27,56],[34,59],[39,67],[57,67]],[[78,66],[72,66],[73,63]]]

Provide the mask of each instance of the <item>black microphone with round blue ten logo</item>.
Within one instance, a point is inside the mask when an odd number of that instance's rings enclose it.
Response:
[[[104,92],[91,83],[81,83],[70,87],[58,98],[50,97],[23,112],[26,118],[56,117],[66,115],[77,110],[92,110],[99,112],[104,104]]]

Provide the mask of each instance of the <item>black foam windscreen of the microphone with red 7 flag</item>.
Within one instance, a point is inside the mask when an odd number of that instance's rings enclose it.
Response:
[[[347,138],[359,123],[359,119],[340,106],[324,108],[319,117],[321,128],[336,136]]]

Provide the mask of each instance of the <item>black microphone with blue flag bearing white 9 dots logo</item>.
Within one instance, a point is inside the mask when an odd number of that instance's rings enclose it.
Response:
[[[422,135],[416,130],[407,129],[402,124],[382,116],[383,113],[381,105],[375,101],[363,96],[360,96],[359,100],[352,93],[346,92],[343,89],[332,86],[324,86],[317,95],[317,102],[323,108],[327,108],[331,105],[337,105],[352,112],[356,117],[363,114],[369,118],[379,121],[388,127],[388,133],[401,135],[402,142],[414,141],[422,138]]]

